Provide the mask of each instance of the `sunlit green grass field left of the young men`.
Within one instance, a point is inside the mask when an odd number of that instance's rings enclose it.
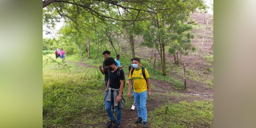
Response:
[[[54,54],[48,56],[55,57]],[[108,122],[103,105],[104,75],[94,68],[88,70],[61,59],[53,60],[56,62],[43,56],[43,126],[65,127],[84,122],[103,127],[104,121]],[[127,87],[126,82],[125,98]],[[127,106],[132,103],[126,99]]]

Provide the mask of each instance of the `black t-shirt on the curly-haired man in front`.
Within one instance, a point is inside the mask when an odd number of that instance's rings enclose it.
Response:
[[[120,88],[120,81],[119,80],[124,80],[124,71],[120,71],[120,76],[117,76],[117,70],[114,71],[113,73],[111,71],[108,72],[108,77],[109,77],[109,87],[114,88],[114,89],[119,89]],[[118,78],[119,77],[119,78]]]

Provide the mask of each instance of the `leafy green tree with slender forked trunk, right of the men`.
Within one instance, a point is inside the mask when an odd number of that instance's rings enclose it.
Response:
[[[152,20],[147,30],[143,32],[144,42],[142,44],[156,48],[160,55],[162,74],[166,75],[165,47],[171,44],[169,46],[172,48],[169,51],[173,51],[175,42],[190,42],[189,39],[193,36],[187,34],[187,38],[184,38],[186,35],[184,32],[189,28],[186,26],[186,21],[191,12],[195,12],[196,9],[205,9],[205,5],[202,0],[177,0],[158,4],[155,8],[159,11],[151,13]]]

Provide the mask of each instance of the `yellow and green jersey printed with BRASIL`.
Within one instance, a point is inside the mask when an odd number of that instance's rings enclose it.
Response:
[[[148,71],[146,68],[145,68],[145,75],[146,75],[146,78],[148,79],[149,75],[148,75]],[[129,79],[130,80],[133,79],[133,91],[134,92],[140,93],[140,92],[144,92],[144,91],[148,90],[147,82],[142,75],[141,67],[139,70],[134,69],[132,75],[130,72]]]

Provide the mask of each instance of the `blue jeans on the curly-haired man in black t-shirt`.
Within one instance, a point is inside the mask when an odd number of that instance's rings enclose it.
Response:
[[[108,92],[109,92],[109,91],[108,91]],[[108,95],[108,92],[107,92],[107,95]],[[110,91],[110,92],[111,92],[111,91]],[[117,92],[117,95],[118,95],[118,94],[119,94],[119,93]],[[119,103],[118,103],[117,106],[115,106],[116,115],[117,115],[116,118],[115,118],[115,116],[113,115],[113,112],[112,112],[112,110],[111,110],[111,106],[112,106],[112,104],[114,103],[114,100],[116,100],[116,99],[114,99],[114,94],[113,94],[113,92],[111,92],[111,101],[110,101],[110,102],[107,101],[107,98],[106,98],[105,110],[106,110],[106,112],[107,112],[107,114],[108,114],[108,117],[109,117],[109,119],[110,119],[111,121],[116,119],[116,122],[117,122],[117,123],[121,123],[122,111],[121,111],[121,108],[119,108]]]

